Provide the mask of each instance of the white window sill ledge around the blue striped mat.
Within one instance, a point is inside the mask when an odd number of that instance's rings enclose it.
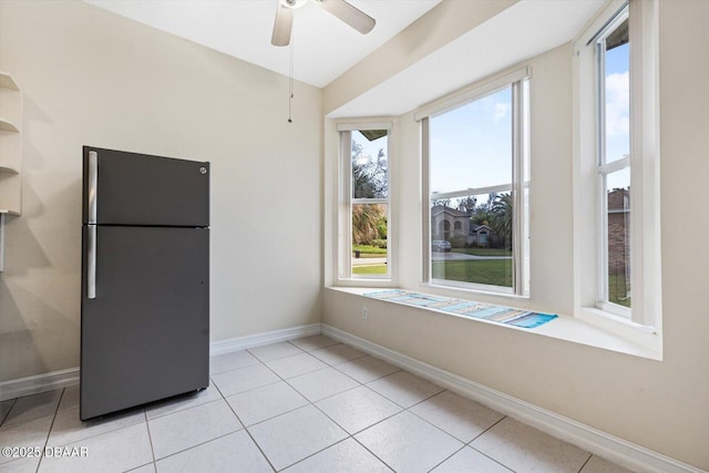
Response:
[[[362,296],[367,292],[374,292],[381,287],[328,287],[327,289],[331,289],[335,291],[341,291],[352,295]],[[390,300],[381,300],[368,298],[371,301],[378,301],[381,304],[399,304],[401,302],[390,301]],[[507,330],[520,330],[525,333],[530,333],[531,336],[543,336],[551,337],[559,340],[566,340],[573,343],[586,345],[589,347],[596,347],[604,350],[616,351],[619,353],[631,354],[634,357],[648,358],[650,360],[661,360],[661,345],[659,343],[660,337],[657,333],[653,333],[647,331],[645,335],[649,337],[650,340],[654,341],[653,346],[648,346],[645,342],[638,342],[637,340],[628,339],[627,337],[621,337],[615,332],[612,332],[607,329],[599,327],[596,323],[589,323],[588,321],[583,319],[582,317],[569,317],[565,315],[558,315],[558,318],[544,323],[543,326],[525,329],[503,323],[496,323],[483,319],[475,319],[471,317],[458,316],[450,312],[443,312],[441,310],[425,308],[425,307],[417,307],[404,305],[411,310],[427,310],[429,312],[434,312],[440,315],[441,317],[459,317],[465,320],[470,320],[471,323],[492,323],[500,328]],[[635,329],[635,327],[633,327]]]

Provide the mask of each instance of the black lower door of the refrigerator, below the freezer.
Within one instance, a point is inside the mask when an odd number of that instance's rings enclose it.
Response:
[[[95,298],[83,228],[82,420],[209,383],[209,230],[99,226]]]

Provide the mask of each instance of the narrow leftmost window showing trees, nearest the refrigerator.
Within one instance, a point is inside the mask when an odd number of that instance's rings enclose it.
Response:
[[[340,125],[342,205],[347,235],[340,278],[390,278],[389,136],[387,125]]]

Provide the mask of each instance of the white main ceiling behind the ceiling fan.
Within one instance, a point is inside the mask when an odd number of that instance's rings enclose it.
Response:
[[[288,75],[289,48],[270,37],[278,0],[84,0],[93,6]],[[296,10],[295,79],[323,88],[441,0],[348,0],[377,20],[360,34],[308,1]]]

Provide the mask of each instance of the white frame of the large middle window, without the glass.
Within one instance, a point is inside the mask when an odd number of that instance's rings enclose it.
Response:
[[[493,294],[507,297],[530,297],[530,238],[528,238],[528,193],[530,193],[530,68],[522,68],[497,79],[487,79],[453,93],[444,99],[421,107],[414,113],[414,120],[421,126],[422,153],[422,285],[461,289],[477,294]],[[476,282],[461,282],[448,279],[434,279],[431,264],[431,155],[430,117],[441,115],[470,102],[483,99],[505,88],[512,92],[512,182],[481,188],[469,188],[436,194],[439,198],[490,194],[492,192],[512,192],[513,214],[513,286],[493,286]]]

